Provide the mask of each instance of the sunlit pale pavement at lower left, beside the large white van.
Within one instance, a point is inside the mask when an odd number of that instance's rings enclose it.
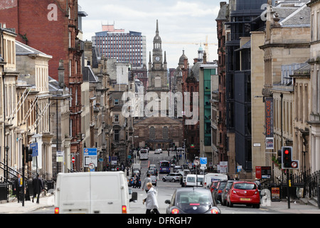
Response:
[[[0,204],[0,214],[25,214],[44,207],[53,207],[54,204],[54,196],[50,194],[40,197],[39,204],[36,203],[36,199],[34,202],[25,201],[24,207],[22,207],[21,202],[18,203],[18,201],[15,199],[14,201]]]

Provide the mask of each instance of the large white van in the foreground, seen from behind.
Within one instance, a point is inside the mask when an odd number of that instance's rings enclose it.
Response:
[[[126,214],[129,199],[124,172],[59,173],[55,187],[55,214]]]

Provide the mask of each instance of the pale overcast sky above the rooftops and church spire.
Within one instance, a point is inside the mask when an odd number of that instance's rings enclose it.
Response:
[[[206,36],[209,61],[218,59],[214,44],[218,42],[215,19],[220,0],[78,0],[78,3],[88,14],[82,19],[84,40],[91,40],[95,32],[102,31],[102,24],[114,24],[115,28],[126,32],[141,32],[146,36],[148,63],[158,19],[162,51],[166,51],[168,68],[178,66],[183,49],[190,66],[193,66],[193,58],[197,58],[200,43],[206,42]]]

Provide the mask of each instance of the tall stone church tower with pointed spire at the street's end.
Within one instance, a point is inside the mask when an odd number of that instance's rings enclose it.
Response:
[[[156,36],[154,36],[154,46],[149,53],[149,87],[148,92],[156,92],[160,97],[161,92],[168,92],[169,86],[167,82],[168,69],[166,63],[166,51],[164,56],[161,47],[162,41],[159,36],[159,24],[156,20]]]

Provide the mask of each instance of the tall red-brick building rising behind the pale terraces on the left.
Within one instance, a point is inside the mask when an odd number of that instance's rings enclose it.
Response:
[[[79,153],[77,170],[82,167],[81,84],[82,41],[78,39],[78,0],[1,1],[0,23],[15,28],[17,40],[53,56],[49,76],[58,81],[60,59],[64,62],[65,86],[70,89],[71,153]]]

